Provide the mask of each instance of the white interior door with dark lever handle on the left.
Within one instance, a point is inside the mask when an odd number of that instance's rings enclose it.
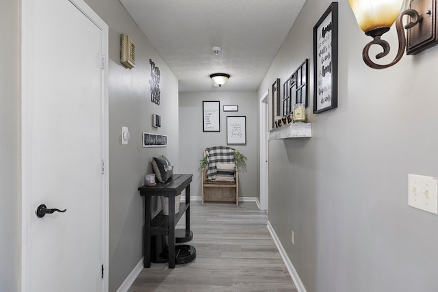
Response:
[[[23,291],[107,289],[105,42],[82,0],[23,1]]]

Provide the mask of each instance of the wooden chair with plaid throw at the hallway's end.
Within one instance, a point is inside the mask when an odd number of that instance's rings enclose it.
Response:
[[[229,148],[225,146],[216,146],[214,148]],[[207,156],[207,151],[213,148],[204,150],[204,157]],[[229,148],[234,150],[233,148]],[[234,179],[233,181],[211,181],[207,180],[207,168],[202,170],[201,189],[202,189],[202,204],[204,202],[235,202],[239,205],[239,170],[237,163],[233,157],[231,163],[234,164]]]

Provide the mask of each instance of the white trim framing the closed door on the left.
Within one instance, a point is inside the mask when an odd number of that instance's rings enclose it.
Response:
[[[108,291],[108,265],[109,265],[109,117],[108,117],[108,52],[109,52],[109,28],[108,25],[100,18],[96,12],[94,12],[88,4],[83,0],[68,0],[70,3],[75,5],[75,7],[81,11],[85,16],[87,16],[96,27],[99,27],[102,31],[102,52],[103,52],[103,67],[102,68],[102,159],[105,161],[105,173],[102,174],[102,237],[103,237],[103,246],[102,246],[102,258],[103,265],[105,267],[105,277],[103,278],[103,291]],[[29,190],[27,187],[27,182],[29,178],[29,140],[28,135],[29,129],[28,126],[31,124],[31,119],[29,118],[29,113],[31,111],[30,101],[27,98],[29,96],[28,92],[28,84],[29,80],[27,80],[28,74],[28,66],[29,59],[27,59],[28,54],[28,44],[27,40],[31,37],[29,31],[29,25],[31,25],[31,10],[34,5],[38,5],[38,1],[34,0],[21,0],[21,108],[18,109],[19,117],[21,118],[20,124],[20,133],[18,133],[20,137],[20,155],[21,161],[19,162],[19,170],[21,173],[21,201],[18,205],[18,212],[21,213],[19,215],[19,226],[21,226],[21,230],[18,230],[18,234],[21,235],[21,238],[18,241],[19,247],[19,261],[18,261],[18,271],[19,271],[19,286],[20,291],[27,290],[27,280],[29,275],[27,274],[27,261],[29,261],[29,254],[27,252],[29,239],[27,237],[27,222],[31,214],[34,213],[33,210],[29,210],[27,208],[28,205],[28,194]]]

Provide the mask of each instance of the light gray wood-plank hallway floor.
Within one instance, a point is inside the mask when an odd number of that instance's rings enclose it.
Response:
[[[184,217],[177,227],[183,228]],[[297,291],[255,202],[190,204],[192,263],[152,263],[129,292]]]

